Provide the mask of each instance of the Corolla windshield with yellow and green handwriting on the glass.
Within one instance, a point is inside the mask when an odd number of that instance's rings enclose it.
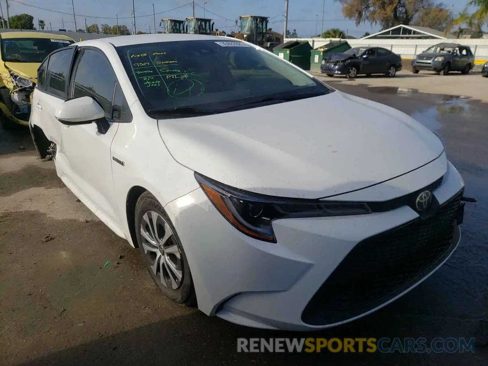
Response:
[[[241,41],[171,41],[117,47],[145,111],[222,113],[253,103],[284,102],[332,90]]]

